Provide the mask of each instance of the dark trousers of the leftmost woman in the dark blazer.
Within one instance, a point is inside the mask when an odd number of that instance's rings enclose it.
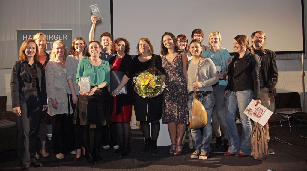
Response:
[[[39,91],[32,91],[27,102],[20,104],[21,116],[17,117],[18,156],[21,168],[36,161],[37,135],[41,121],[43,100]]]

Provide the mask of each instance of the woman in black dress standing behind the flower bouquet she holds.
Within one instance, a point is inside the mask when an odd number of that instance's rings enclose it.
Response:
[[[162,74],[165,75],[165,70],[162,67],[162,60],[159,56],[153,54],[153,45],[148,38],[141,38],[137,45],[138,52],[133,59],[133,73],[134,76],[138,76],[140,72],[146,71],[150,68],[157,68]],[[145,77],[154,77],[154,73],[148,74]],[[147,78],[150,80],[150,78]],[[137,83],[141,84],[141,83]],[[148,82],[148,87],[153,87],[154,81]],[[137,85],[140,87],[141,85]],[[146,85],[144,85],[146,86]],[[141,128],[145,138],[145,147],[141,153],[148,153],[151,150],[151,154],[157,154],[157,139],[160,132],[160,119],[162,117],[162,100],[163,95],[157,95],[155,97],[143,98],[138,93],[134,93],[134,111],[138,121],[140,121]],[[149,125],[151,123],[151,127]],[[151,131],[151,138],[150,138]]]

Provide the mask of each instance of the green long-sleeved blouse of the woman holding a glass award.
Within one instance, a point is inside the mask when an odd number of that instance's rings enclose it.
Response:
[[[106,82],[108,86],[110,84],[110,64],[102,60],[99,66],[91,64],[89,58],[82,58],[78,64],[76,83],[79,82],[80,76],[90,76],[91,86],[99,85]]]

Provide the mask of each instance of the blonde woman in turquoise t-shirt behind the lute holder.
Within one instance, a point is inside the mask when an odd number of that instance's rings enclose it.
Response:
[[[222,145],[221,127],[224,133],[224,145],[222,149],[228,150],[228,133],[225,121],[226,100],[224,99],[224,91],[227,86],[225,76],[227,75],[226,68],[228,68],[230,64],[230,54],[227,49],[220,47],[221,35],[218,31],[212,31],[209,34],[208,42],[211,44],[211,49],[206,50],[202,56],[212,59],[220,77],[219,83],[213,86],[213,95],[216,99],[212,114],[212,124],[216,134],[216,142],[213,146],[218,148]]]

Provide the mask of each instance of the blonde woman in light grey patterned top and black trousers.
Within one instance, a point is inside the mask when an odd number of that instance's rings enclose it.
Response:
[[[46,89],[48,114],[52,118],[52,142],[56,158],[74,154],[72,109],[68,110],[66,57],[68,53],[63,41],[53,42],[50,60],[46,66]]]

